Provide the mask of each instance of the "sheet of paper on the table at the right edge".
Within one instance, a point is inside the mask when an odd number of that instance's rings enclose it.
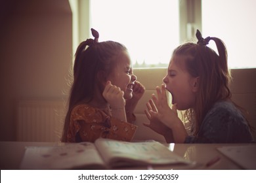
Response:
[[[244,169],[256,169],[256,145],[223,146],[217,150]]]

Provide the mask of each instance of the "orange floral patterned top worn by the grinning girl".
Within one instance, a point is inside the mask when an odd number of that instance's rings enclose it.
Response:
[[[77,105],[70,114],[68,142],[95,142],[98,138],[131,141],[137,125],[122,122],[111,115],[111,110]]]

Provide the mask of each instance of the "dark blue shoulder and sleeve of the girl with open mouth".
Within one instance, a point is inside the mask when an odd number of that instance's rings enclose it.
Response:
[[[253,141],[247,120],[232,101],[218,101],[213,105],[203,120],[201,134],[210,142]]]

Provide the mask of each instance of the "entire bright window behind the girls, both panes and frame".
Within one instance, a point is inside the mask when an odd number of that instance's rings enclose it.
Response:
[[[78,14],[74,31],[77,42],[91,37],[89,28],[100,33],[100,41],[125,44],[133,66],[167,67],[174,48],[203,37],[221,38],[228,50],[228,66],[256,68],[255,0],[69,0]],[[75,16],[74,16],[75,17]],[[77,36],[78,35],[78,36]],[[216,50],[213,41],[209,46]]]

